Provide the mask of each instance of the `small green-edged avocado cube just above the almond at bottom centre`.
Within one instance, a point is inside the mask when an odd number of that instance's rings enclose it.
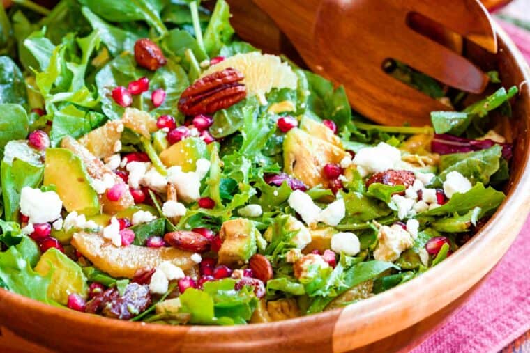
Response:
[[[219,249],[219,265],[243,265],[257,251],[259,231],[248,219],[225,221],[219,235],[223,240]]]

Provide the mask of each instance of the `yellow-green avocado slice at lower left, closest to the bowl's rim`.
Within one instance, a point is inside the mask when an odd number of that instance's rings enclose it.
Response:
[[[68,295],[76,293],[86,298],[89,288],[86,285],[86,276],[77,265],[57,249],[49,249],[40,257],[35,271],[41,276],[52,273],[48,297],[59,304],[68,303]]]

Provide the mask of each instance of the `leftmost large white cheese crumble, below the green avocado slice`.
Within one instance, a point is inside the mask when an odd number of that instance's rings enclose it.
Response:
[[[20,192],[20,212],[29,217],[29,223],[47,223],[61,217],[63,201],[55,191],[40,191],[23,187]]]

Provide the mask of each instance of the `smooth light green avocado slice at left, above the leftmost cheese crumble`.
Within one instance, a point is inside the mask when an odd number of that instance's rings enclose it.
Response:
[[[82,160],[66,148],[46,150],[44,185],[55,185],[68,212],[91,216],[100,211],[98,194],[90,185]]]

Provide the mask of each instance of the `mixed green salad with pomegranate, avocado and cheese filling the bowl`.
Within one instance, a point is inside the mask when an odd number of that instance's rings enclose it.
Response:
[[[510,98],[379,126],[195,0],[0,8],[0,287],[165,324],[353,304],[457,251],[503,202]],[[354,73],[352,73],[354,74]]]

